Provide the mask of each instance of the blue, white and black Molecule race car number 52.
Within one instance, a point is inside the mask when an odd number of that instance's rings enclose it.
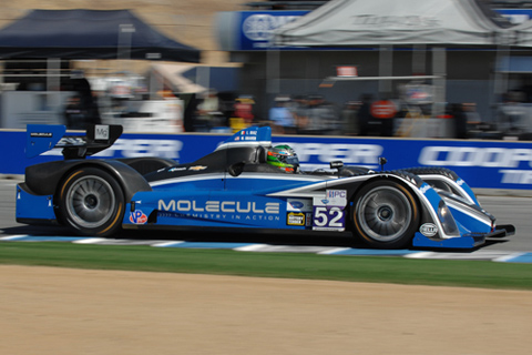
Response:
[[[120,229],[350,232],[375,248],[472,248],[515,231],[495,225],[450,170],[372,171],[331,162],[329,171],[300,172],[288,146],[272,146],[268,126],[239,131],[186,164],[85,159],[111,146],[120,125],[64,133],[61,125],[28,126],[27,155],[55,146],[64,160],[27,168],[17,186],[18,222],[59,223],[93,236]]]

